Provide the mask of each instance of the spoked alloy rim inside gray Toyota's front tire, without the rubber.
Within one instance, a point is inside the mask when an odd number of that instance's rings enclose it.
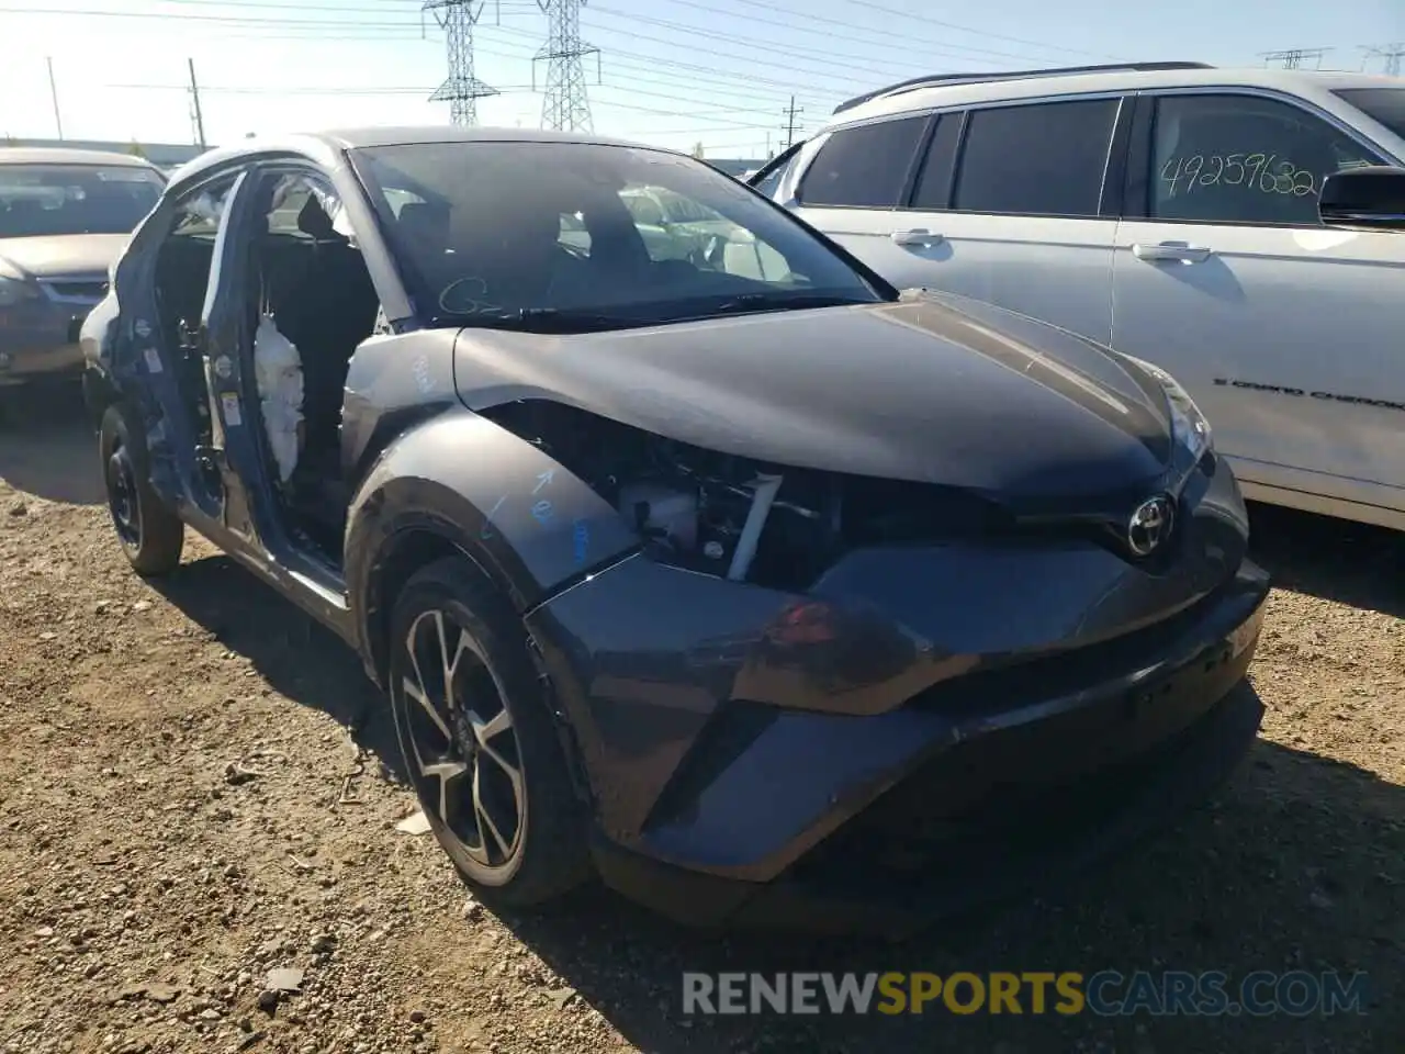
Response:
[[[507,877],[527,829],[511,711],[483,653],[451,613],[420,614],[405,648],[403,724],[420,801],[483,878]]]

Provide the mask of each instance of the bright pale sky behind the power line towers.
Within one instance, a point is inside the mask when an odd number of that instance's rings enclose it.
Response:
[[[422,0],[0,0],[0,135],[191,142],[187,59],[207,139],[355,124],[437,124],[444,34]],[[1380,69],[1405,0],[589,0],[582,38],[597,132],[708,156],[763,156],[836,103],[903,77],[1127,59],[1262,65],[1332,48],[1324,67]],[[476,73],[502,94],[479,124],[540,126],[537,0],[486,0]],[[545,67],[537,63],[540,87]]]

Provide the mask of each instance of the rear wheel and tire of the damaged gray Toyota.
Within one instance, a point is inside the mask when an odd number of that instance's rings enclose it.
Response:
[[[98,453],[107,509],[128,562],[146,576],[174,571],[185,545],[185,526],[152,489],[146,447],[133,436],[117,403],[103,413]]]

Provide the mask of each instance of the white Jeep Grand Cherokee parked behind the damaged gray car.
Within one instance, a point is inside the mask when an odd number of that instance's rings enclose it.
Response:
[[[750,183],[899,287],[1165,368],[1249,497],[1405,528],[1405,80],[937,76],[843,104]]]

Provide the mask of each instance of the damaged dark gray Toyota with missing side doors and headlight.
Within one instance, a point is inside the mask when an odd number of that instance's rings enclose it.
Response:
[[[905,926],[1124,843],[1259,727],[1267,582],[1179,385],[898,292],[690,157],[216,150],[83,341],[131,562],[190,524],[346,638],[500,904],[594,871]]]

